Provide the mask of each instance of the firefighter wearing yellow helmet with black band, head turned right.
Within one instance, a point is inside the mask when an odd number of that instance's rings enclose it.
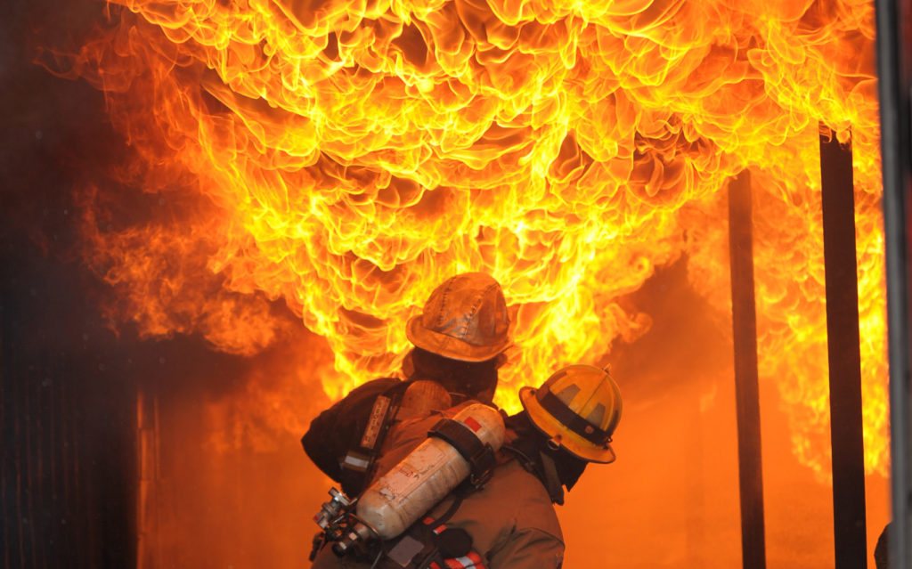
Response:
[[[615,460],[610,443],[620,392],[606,370],[575,365],[541,388],[523,388],[520,399],[524,410],[505,421],[506,443],[480,488],[463,482],[408,531],[360,556],[323,546],[313,568],[559,568],[564,541],[553,503],[564,502],[564,489],[574,487],[589,462]],[[399,464],[438,419],[394,427],[395,444],[378,460],[378,472]]]

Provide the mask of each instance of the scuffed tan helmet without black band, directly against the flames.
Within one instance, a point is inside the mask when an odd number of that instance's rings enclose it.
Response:
[[[510,316],[501,285],[484,273],[457,274],[434,289],[406,326],[417,347],[451,359],[484,361],[510,347]]]

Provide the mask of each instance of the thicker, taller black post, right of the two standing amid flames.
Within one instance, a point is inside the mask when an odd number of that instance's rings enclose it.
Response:
[[[852,146],[820,128],[836,569],[867,567]]]

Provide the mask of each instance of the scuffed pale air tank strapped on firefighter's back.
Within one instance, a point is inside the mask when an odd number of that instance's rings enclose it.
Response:
[[[493,451],[503,445],[503,418],[496,409],[481,403],[462,409],[447,427],[453,437],[430,436],[358,500],[358,518],[370,524],[382,539],[404,532],[472,472],[469,460],[462,456],[467,445],[455,439],[471,436]],[[462,451],[444,439],[461,446]]]

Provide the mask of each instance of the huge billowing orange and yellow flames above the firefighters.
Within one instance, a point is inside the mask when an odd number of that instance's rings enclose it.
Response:
[[[46,65],[103,89],[134,152],[85,194],[112,316],[254,354],[285,334],[284,303],[332,348],[332,398],[395,370],[406,319],[462,271],[493,274],[514,307],[508,409],[515,387],[642,334],[649,316],[619,300],[682,255],[728,314],[724,190],[751,169],[761,378],[793,416],[795,452],[826,471],[818,121],[851,132],[867,466],[886,471],[870,2],[115,0],[108,13]]]

